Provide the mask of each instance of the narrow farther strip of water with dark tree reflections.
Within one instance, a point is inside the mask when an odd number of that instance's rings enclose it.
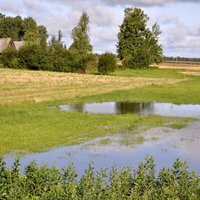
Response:
[[[60,105],[62,111],[92,114],[141,114],[172,117],[200,117],[200,105],[153,102],[103,102]]]

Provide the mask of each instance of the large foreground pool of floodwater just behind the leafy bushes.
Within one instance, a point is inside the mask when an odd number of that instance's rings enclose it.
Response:
[[[146,155],[153,155],[156,170],[171,167],[177,157],[188,162],[190,170],[200,174],[200,121],[181,130],[153,128],[142,133],[145,140],[142,143],[122,145],[116,142],[120,135],[98,138],[82,145],[59,147],[43,153],[32,153],[21,157],[21,169],[35,160],[39,165],[45,163],[55,165],[59,169],[73,162],[79,175],[82,175],[90,162],[95,170],[102,167],[110,169],[114,164],[118,167],[130,166],[136,168]],[[138,137],[138,135],[137,135]],[[102,139],[112,142],[103,145]],[[15,155],[6,155],[5,161],[10,167]]]

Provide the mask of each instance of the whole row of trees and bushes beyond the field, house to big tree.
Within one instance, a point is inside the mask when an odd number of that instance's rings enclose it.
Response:
[[[124,68],[145,68],[162,61],[162,46],[159,44],[160,27],[155,23],[147,27],[149,17],[140,8],[126,8],[117,42],[117,56]],[[116,56],[106,52],[99,60],[93,53],[89,38],[89,16],[83,12],[71,32],[73,43],[69,48],[62,41],[62,32],[49,42],[44,26],[38,26],[31,18],[6,17],[0,14],[0,37],[23,40],[25,44],[16,51],[7,49],[2,62],[10,68],[51,70],[86,73],[92,68],[107,74],[116,69]],[[100,61],[100,62],[99,62]],[[98,64],[97,64],[98,63]]]

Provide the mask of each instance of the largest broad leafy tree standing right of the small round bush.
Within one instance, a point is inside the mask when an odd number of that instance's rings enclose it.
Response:
[[[154,24],[147,28],[149,17],[140,8],[126,8],[125,17],[118,33],[117,52],[125,67],[148,67],[160,62],[162,48],[158,44],[160,29]]]

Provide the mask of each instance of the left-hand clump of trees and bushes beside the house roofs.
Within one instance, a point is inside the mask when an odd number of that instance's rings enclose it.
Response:
[[[12,28],[16,20],[21,26]],[[72,30],[73,43],[68,49],[63,44],[61,30],[47,43],[46,28],[38,26],[31,17],[23,20],[18,16],[15,18],[2,16],[0,26],[1,24],[11,24],[11,26],[10,29],[3,30],[0,37],[9,36],[23,40],[25,43],[19,51],[8,48],[2,53],[2,62],[7,67],[85,73],[86,68],[95,63],[88,37],[89,17],[85,12],[78,25]],[[5,25],[5,27],[8,26]]]

